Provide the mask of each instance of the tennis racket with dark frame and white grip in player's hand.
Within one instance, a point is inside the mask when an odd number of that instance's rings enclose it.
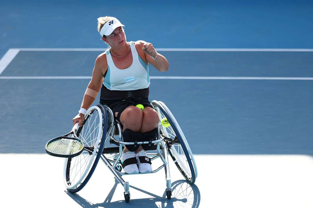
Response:
[[[46,144],[46,152],[55,157],[75,157],[84,151],[84,143],[76,136],[78,123],[72,131],[54,139]]]

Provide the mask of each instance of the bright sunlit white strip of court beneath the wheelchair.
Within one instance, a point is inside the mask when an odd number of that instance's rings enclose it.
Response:
[[[1,207],[313,207],[313,157],[305,155],[194,155],[198,178],[183,181],[170,164],[172,199],[164,170],[123,176],[131,200],[99,161],[88,184],[66,191],[64,159],[47,154],[0,154]],[[155,162],[155,161],[153,161]],[[156,162],[157,163],[157,162]],[[172,162],[171,162],[172,163]],[[153,163],[155,164],[155,163]]]

